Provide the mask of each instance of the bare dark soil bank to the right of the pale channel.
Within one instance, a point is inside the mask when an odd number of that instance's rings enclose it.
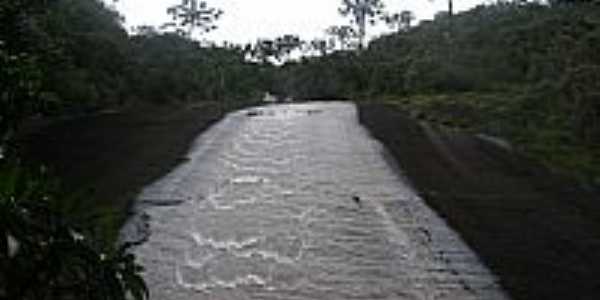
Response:
[[[359,104],[359,115],[514,299],[600,299],[597,191],[393,106]]]

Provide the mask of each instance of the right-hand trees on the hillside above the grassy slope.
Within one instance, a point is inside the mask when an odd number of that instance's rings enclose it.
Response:
[[[432,21],[374,40],[363,52],[290,62],[284,73],[293,77],[311,67],[318,72],[321,65],[337,75],[353,70],[355,83],[345,88],[337,84],[344,78],[323,79],[331,83],[323,84],[327,94],[345,95],[505,90],[559,82],[580,67],[598,64],[599,10],[592,4],[498,2],[452,17],[441,12]],[[311,93],[284,85],[291,93]]]

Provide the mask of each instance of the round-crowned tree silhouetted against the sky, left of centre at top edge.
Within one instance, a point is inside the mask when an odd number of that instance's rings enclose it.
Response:
[[[214,23],[223,15],[223,11],[209,7],[206,1],[181,0],[180,4],[169,7],[167,14],[171,15],[173,22],[164,27],[175,27],[177,32],[191,37],[197,28],[203,33],[216,29]],[[183,29],[186,27],[187,29]]]

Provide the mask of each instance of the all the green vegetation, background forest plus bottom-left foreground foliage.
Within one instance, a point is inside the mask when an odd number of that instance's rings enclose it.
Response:
[[[128,32],[99,0],[0,2],[0,235],[7,237],[0,267],[41,274],[0,274],[0,299],[47,299],[65,290],[81,299],[145,296],[130,245],[114,250],[73,234],[54,213],[53,199],[64,196],[45,169],[25,170],[19,161],[14,137],[34,117],[144,105],[234,108],[267,91],[384,101],[415,119],[505,138],[549,168],[600,184],[597,1],[500,1],[419,24],[410,12],[385,12],[380,1],[357,17],[351,2],[340,12],[354,19],[328,29],[329,39],[286,35],[253,45],[192,39],[195,30],[218,27],[215,9],[198,17],[176,5],[168,11],[176,22]],[[367,43],[370,19],[395,32]],[[290,59],[294,51],[306,55]],[[75,253],[72,261],[54,259],[64,249]],[[64,274],[50,271],[57,268]]]

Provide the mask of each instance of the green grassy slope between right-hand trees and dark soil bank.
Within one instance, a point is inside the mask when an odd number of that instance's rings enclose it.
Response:
[[[575,138],[566,113],[544,111],[537,98],[519,92],[387,96],[378,101],[397,106],[415,118],[468,133],[508,140],[549,169],[600,184],[600,145]]]

